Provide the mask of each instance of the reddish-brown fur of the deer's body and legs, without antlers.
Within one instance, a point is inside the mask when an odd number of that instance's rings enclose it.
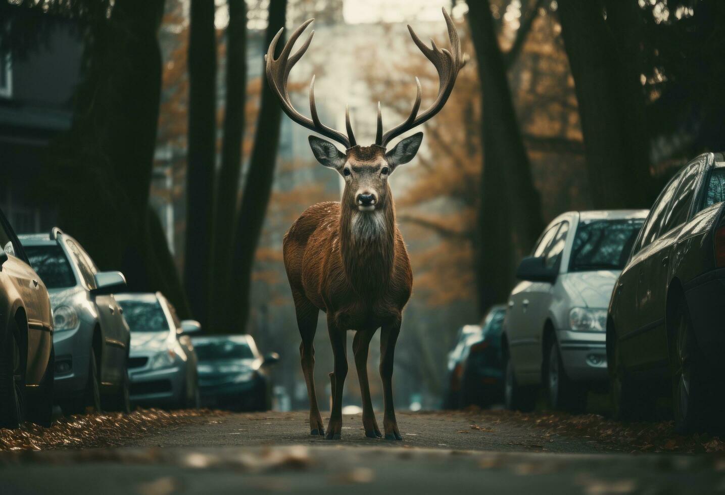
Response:
[[[339,438],[342,424],[340,401],[347,374],[347,330],[357,330],[353,348],[363,396],[365,432],[368,436],[381,436],[370,402],[367,357],[370,338],[382,328],[384,429],[386,438],[401,439],[392,406],[392,362],[402,309],[413,286],[413,273],[395,223],[389,185],[386,178],[379,179],[377,172],[386,164],[384,149],[381,146],[355,146],[347,151],[347,163],[361,170],[361,177],[367,175],[368,183],[376,186],[376,211],[358,211],[355,195],[359,184],[348,180],[341,202],[318,203],[306,209],[283,240],[284,264],[302,336],[300,354],[310,399],[310,429],[313,434],[323,434],[312,371],[312,340],[318,312],[322,310],[327,313],[328,332],[335,354],[335,370],[331,373],[333,410],[327,438]],[[356,215],[381,215],[384,229],[379,236],[355,236],[353,222]]]

